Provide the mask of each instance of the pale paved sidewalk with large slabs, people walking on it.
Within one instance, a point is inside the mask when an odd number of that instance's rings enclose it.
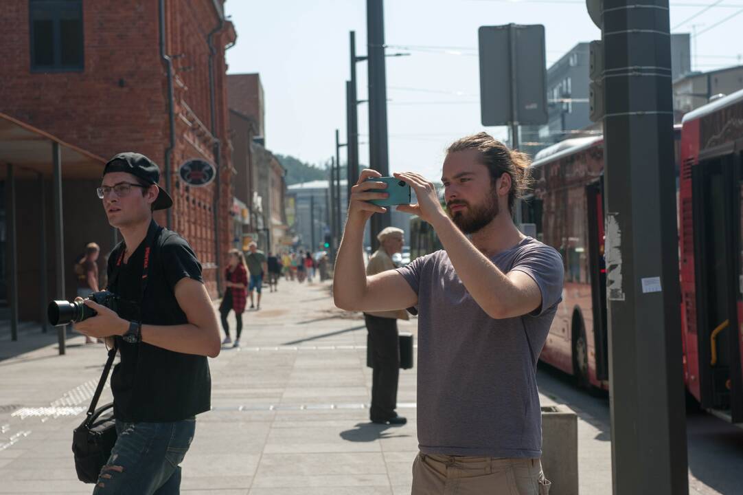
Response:
[[[417,366],[400,372],[398,412],[409,423],[370,424],[361,316],[337,310],[327,282],[282,280],[262,307],[244,313],[242,347],[210,360],[213,409],[198,417],[183,493],[409,494]],[[234,323],[230,316],[233,337]],[[416,320],[400,330],[415,333]],[[55,331],[24,328],[20,342],[0,335],[0,494],[91,493],[75,476],[71,436],[106,353],[71,335],[63,357]],[[542,405],[581,401],[542,370],[539,386]],[[594,417],[602,404],[577,407],[581,494],[611,494],[609,431]],[[693,494],[718,493],[691,482]]]

